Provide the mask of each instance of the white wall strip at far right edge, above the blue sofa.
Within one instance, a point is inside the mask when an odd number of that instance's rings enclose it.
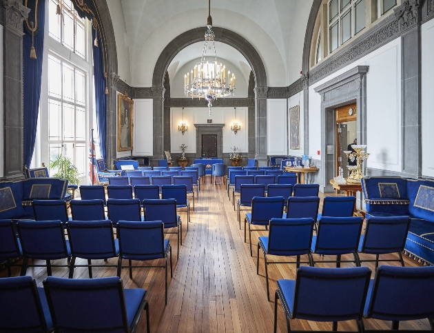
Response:
[[[422,25],[422,176],[434,177],[434,20]]]

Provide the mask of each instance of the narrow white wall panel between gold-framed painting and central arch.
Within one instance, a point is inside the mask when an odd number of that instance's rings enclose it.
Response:
[[[152,99],[134,99],[133,155],[154,154],[154,110]]]

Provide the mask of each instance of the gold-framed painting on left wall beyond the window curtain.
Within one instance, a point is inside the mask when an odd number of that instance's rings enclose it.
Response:
[[[128,94],[118,94],[118,152],[133,148],[133,103]]]

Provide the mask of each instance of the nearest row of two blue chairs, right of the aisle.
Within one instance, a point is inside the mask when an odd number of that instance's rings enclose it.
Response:
[[[278,299],[285,312],[287,332],[300,332],[291,330],[290,319],[331,321],[333,331],[338,330],[339,321],[355,320],[359,333],[385,332],[366,331],[363,318],[392,321],[392,332],[402,332],[398,331],[400,321],[428,319],[431,330],[422,332],[433,332],[433,294],[433,266],[381,265],[373,280],[367,267],[300,267],[295,280],[278,281],[274,333],[277,331]]]

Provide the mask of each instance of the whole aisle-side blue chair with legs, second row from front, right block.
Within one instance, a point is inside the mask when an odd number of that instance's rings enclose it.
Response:
[[[302,219],[271,219],[268,236],[259,236],[258,256],[256,258],[256,274],[259,274],[259,249],[264,254],[265,281],[267,281],[267,299],[270,300],[268,283],[268,265],[270,263],[300,263],[312,265],[311,243],[315,220],[308,217]],[[271,256],[297,256],[296,262],[268,261]],[[307,254],[308,261],[300,261],[300,256]]]

